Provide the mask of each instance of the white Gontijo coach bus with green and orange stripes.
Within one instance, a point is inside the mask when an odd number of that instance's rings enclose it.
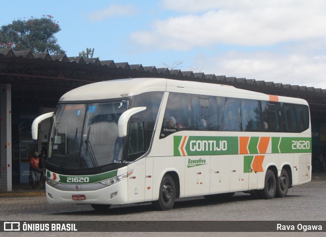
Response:
[[[234,192],[270,199],[311,180],[304,99],[163,78],[111,80],[64,94],[51,118],[50,204],[111,205]]]

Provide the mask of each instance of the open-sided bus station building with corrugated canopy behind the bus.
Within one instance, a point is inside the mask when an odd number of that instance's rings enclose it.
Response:
[[[49,130],[49,121],[42,122],[39,139],[35,141],[31,135],[32,122],[37,116],[54,111],[64,93],[94,82],[140,77],[224,84],[303,98],[310,107],[312,159],[326,150],[326,89],[98,58],[0,49],[0,191],[11,191],[13,183],[29,182],[29,159],[35,151],[46,149]]]

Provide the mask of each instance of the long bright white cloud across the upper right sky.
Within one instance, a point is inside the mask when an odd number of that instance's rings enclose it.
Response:
[[[214,5],[213,1],[203,2]],[[240,9],[225,4],[226,6],[220,9],[212,8],[213,11],[158,20],[152,23],[150,31],[133,32],[131,40],[146,48],[189,50],[215,44],[270,46],[326,37],[323,23],[326,22],[326,8],[322,8],[324,4],[318,8],[313,4],[319,1],[309,1],[309,5],[300,4],[300,1],[295,1],[297,4],[294,5],[293,1],[287,1],[291,4],[280,4],[281,7],[275,4],[270,6],[266,1],[259,2],[265,5],[258,4],[259,8],[256,6]],[[194,1],[194,3],[196,4],[190,3],[184,6],[191,9],[196,7],[200,9],[202,6],[198,4],[202,1]],[[179,2],[177,6],[180,6]]]

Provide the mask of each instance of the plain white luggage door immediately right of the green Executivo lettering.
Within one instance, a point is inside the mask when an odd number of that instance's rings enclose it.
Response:
[[[230,155],[210,157],[209,194],[230,192]]]

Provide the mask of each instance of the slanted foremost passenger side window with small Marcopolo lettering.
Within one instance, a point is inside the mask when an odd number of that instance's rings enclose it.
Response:
[[[169,93],[160,139],[180,130],[192,130],[190,94]]]

